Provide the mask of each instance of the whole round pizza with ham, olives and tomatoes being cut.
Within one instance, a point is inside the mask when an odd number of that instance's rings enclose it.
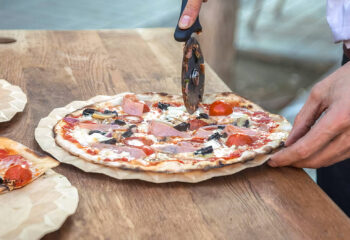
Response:
[[[60,148],[84,161],[177,174],[268,156],[290,128],[282,116],[230,92],[205,95],[192,115],[178,95],[121,93],[65,115],[53,133]]]

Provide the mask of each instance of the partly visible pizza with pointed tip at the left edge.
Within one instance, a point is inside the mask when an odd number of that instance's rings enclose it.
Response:
[[[0,194],[24,187],[56,166],[58,162],[51,157],[39,156],[18,142],[0,137]]]

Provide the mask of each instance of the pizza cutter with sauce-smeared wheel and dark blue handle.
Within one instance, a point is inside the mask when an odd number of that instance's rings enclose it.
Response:
[[[182,0],[181,13],[185,9],[187,0]],[[192,114],[203,99],[204,93],[204,58],[199,42],[194,35],[202,31],[197,17],[194,24],[182,30],[176,26],[174,38],[178,42],[185,42],[182,59],[181,86],[182,97],[187,111]]]

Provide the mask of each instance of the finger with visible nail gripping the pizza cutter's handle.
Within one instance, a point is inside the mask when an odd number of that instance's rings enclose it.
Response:
[[[196,21],[203,0],[188,0],[186,7],[179,20],[179,28],[190,28]]]

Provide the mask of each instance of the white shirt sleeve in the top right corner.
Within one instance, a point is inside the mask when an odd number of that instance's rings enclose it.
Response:
[[[343,41],[350,48],[350,0],[328,0],[327,21],[334,41]]]

